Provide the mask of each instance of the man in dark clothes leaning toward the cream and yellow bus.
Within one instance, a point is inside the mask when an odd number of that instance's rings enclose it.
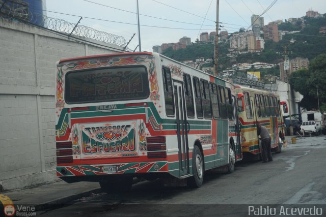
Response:
[[[264,126],[261,126],[260,122],[257,122],[257,133],[258,136],[260,135],[261,140],[261,147],[262,147],[262,163],[266,163],[268,161],[273,161],[271,158],[271,151],[270,151],[270,136],[267,129]]]

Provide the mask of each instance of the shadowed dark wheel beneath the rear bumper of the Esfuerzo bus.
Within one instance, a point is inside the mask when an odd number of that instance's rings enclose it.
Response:
[[[100,187],[105,193],[128,192],[132,187],[132,177],[124,177],[114,181],[103,180],[100,181]]]

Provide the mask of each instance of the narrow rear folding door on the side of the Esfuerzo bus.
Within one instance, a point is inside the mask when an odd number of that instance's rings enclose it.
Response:
[[[174,81],[174,102],[176,107],[176,125],[177,139],[179,148],[179,169],[180,176],[189,174],[189,147],[188,147],[188,131],[186,119],[186,107],[183,83]]]

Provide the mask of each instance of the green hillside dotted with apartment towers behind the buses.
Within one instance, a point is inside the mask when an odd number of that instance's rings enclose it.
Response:
[[[229,34],[219,34],[219,72],[260,71],[265,82],[279,78],[287,81],[284,64],[288,64],[288,74],[298,69],[307,69],[309,61],[324,53],[326,40],[326,16],[308,11],[306,16],[276,20],[264,24],[264,18],[251,17],[252,29]],[[182,37],[179,42],[154,46],[153,51],[182,61],[195,68],[212,71],[214,37],[216,33],[204,32],[200,39]]]

